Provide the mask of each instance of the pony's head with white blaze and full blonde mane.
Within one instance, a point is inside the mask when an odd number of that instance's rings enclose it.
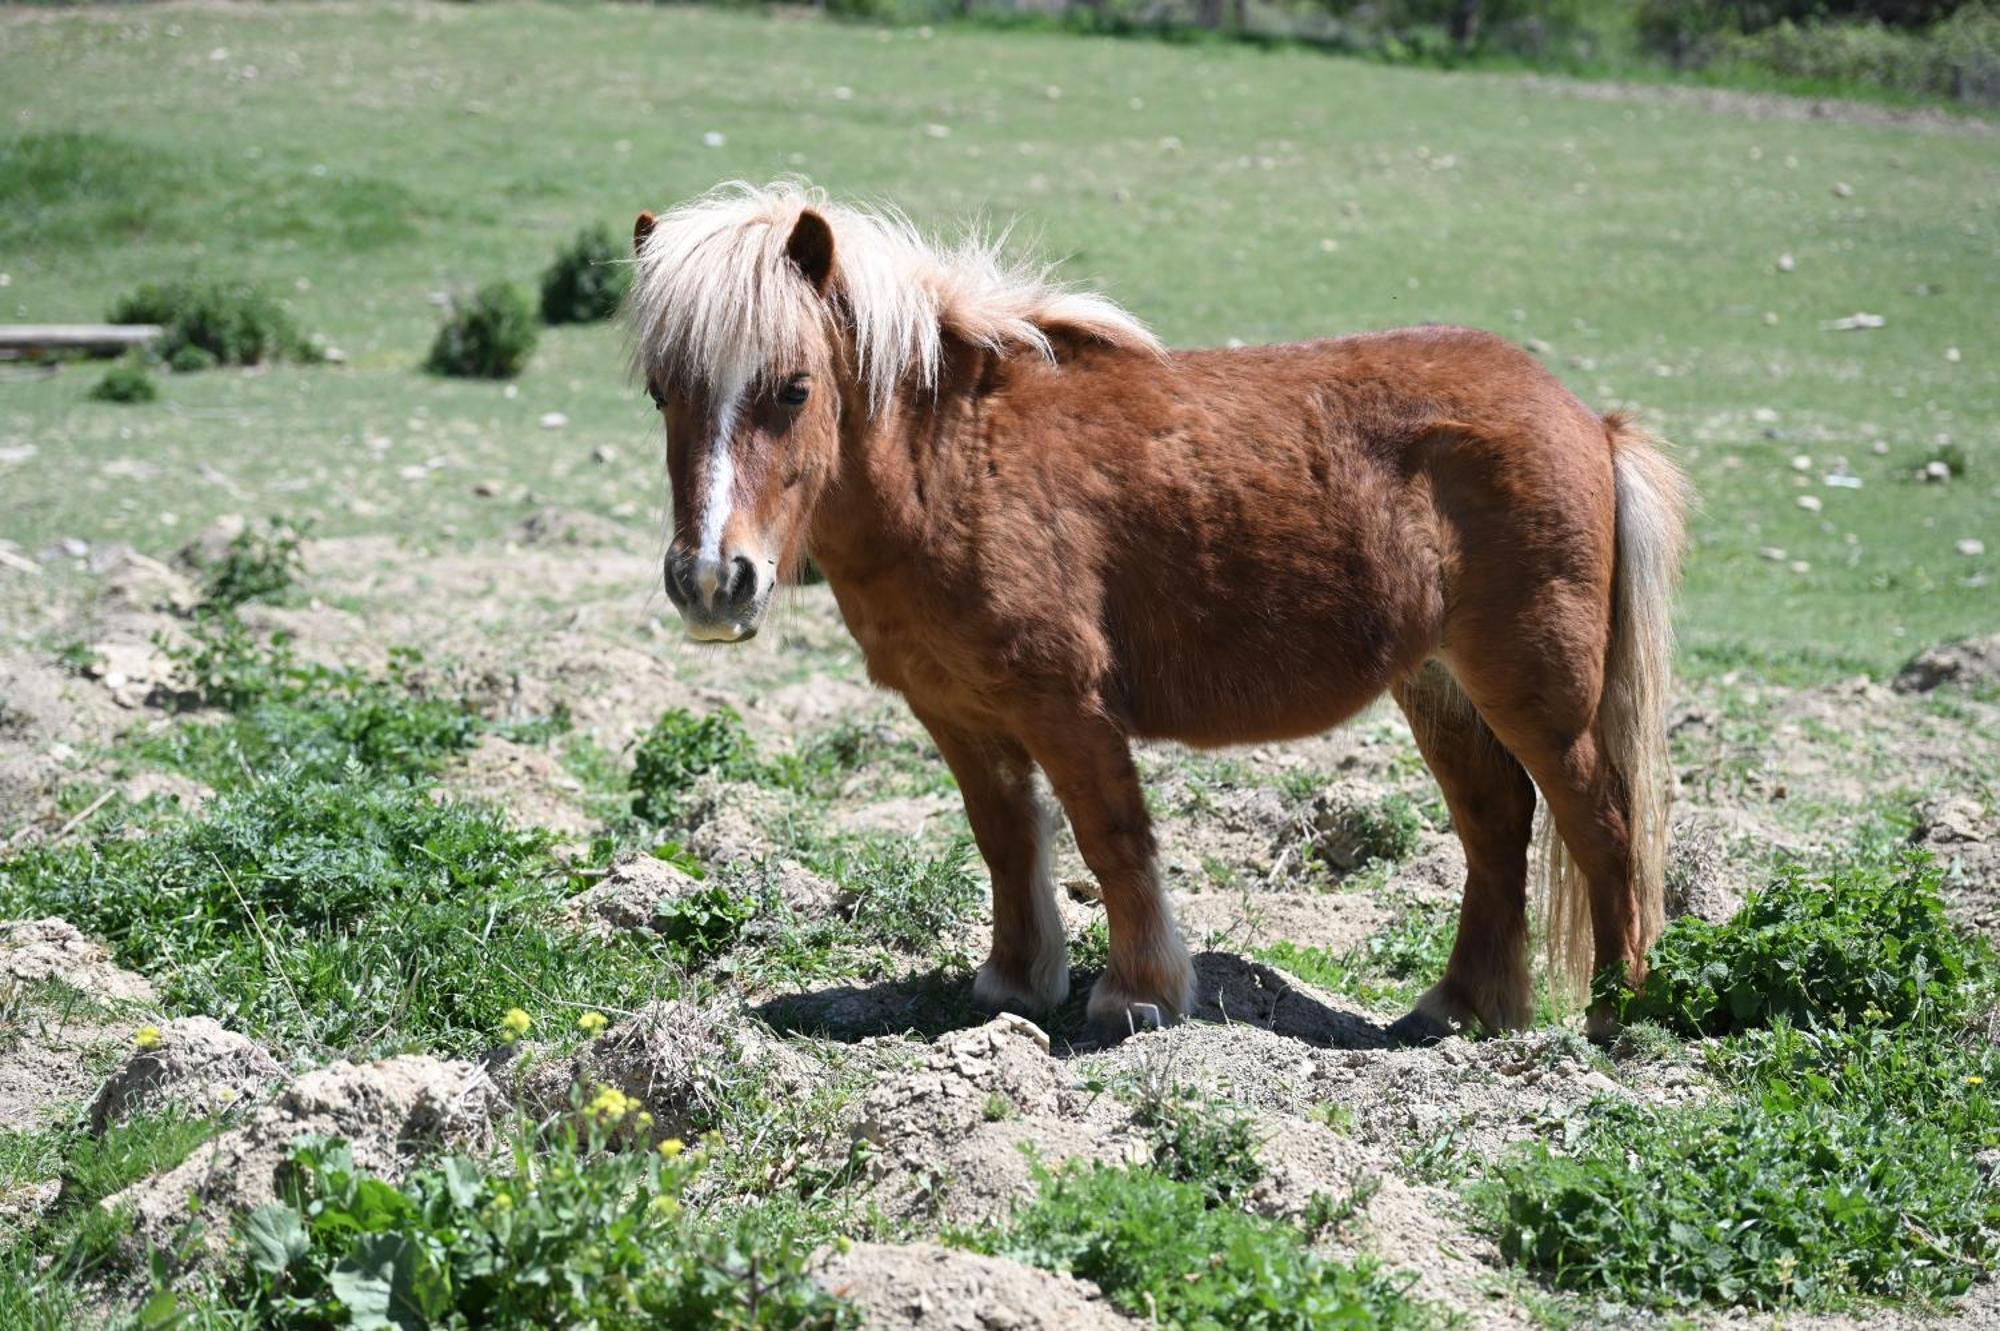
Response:
[[[720,186],[634,228],[634,366],[666,418],[666,594],[702,642],[752,638],[850,446],[956,346],[1052,356],[1052,336],[1158,352],[1112,302],[1010,268],[978,234],[804,184]]]

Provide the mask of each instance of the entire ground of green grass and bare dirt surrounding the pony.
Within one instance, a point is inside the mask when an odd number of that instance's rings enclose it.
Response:
[[[552,4],[10,10],[0,80],[0,318],[252,278],[342,352],[0,366],[0,1327],[2000,1317],[1992,650],[1850,677],[2000,628],[1990,126]],[[828,588],[680,642],[620,332],[420,370],[448,294],[784,172],[1178,344],[1496,328],[1678,440],[1620,1039],[1542,985],[1390,1047],[1468,869],[1388,709],[1140,745],[1188,1021],[1090,1029],[1060,829],[1072,997],[976,1009],[984,865]]]

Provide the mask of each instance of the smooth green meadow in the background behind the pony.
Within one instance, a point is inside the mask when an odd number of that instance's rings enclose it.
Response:
[[[1684,448],[1696,669],[1880,673],[1996,624],[1994,556],[1956,550],[2000,548],[2000,150],[1978,128],[626,6],[30,10],[0,20],[0,318],[250,276],[348,356],[172,378],[142,408],[90,402],[84,370],[6,380],[0,536],[30,552],[172,548],[230,510],[436,546],[498,532],[522,488],[650,540],[656,438],[618,334],[552,332],[518,394],[440,382],[418,372],[432,294],[526,286],[586,222],[804,172],[924,222],[1020,218],[1176,344],[1532,340]],[[1856,312],[1886,324],[1822,332]],[[1938,456],[1964,474],[1914,484]],[[1860,490],[1820,484],[1836,458]],[[474,496],[488,480],[500,498]]]

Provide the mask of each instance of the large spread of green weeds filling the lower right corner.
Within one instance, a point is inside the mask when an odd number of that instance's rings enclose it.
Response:
[[[1652,957],[1650,1017],[1730,1031],[1706,1049],[1726,1095],[1600,1101],[1572,1147],[1504,1161],[1474,1193],[1508,1259],[1654,1309],[1936,1301],[1990,1269],[1996,971],[1934,871],[1790,875]]]

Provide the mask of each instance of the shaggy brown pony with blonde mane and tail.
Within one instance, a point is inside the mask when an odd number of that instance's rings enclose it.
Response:
[[[1132,739],[1310,735],[1384,691],[1466,849],[1452,959],[1392,1035],[1530,1021],[1538,789],[1556,975],[1644,977],[1684,488],[1630,422],[1462,328],[1166,352],[978,236],[936,248],[798,184],[644,214],[634,242],[666,592],[696,640],[742,642],[804,556],[824,570],[964,793],[982,1003],[1070,987],[1036,769],[1110,917],[1090,1017],[1172,1021],[1194,967]]]

